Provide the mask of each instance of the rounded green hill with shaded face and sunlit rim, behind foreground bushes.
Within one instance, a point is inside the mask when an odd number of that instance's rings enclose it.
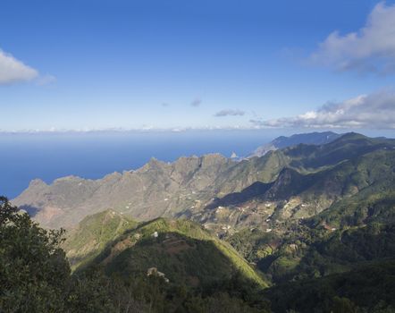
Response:
[[[239,272],[267,286],[231,245],[187,220],[158,218],[140,224],[112,241],[91,265],[104,266],[107,275],[123,277],[147,275],[155,267],[171,283],[193,287],[227,280]]]

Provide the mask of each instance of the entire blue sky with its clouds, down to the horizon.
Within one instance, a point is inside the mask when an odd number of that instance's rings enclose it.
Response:
[[[393,129],[393,31],[393,1],[4,0],[0,130]]]

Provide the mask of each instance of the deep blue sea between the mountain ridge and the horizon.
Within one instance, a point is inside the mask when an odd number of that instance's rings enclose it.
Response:
[[[273,131],[0,134],[0,195],[13,199],[35,178],[47,183],[67,175],[97,179],[137,169],[151,157],[171,162],[207,153],[247,156],[277,135]]]

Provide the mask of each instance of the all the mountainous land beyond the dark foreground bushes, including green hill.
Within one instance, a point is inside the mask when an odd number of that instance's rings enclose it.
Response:
[[[230,294],[242,277],[238,288],[258,292],[236,297],[262,311],[394,309],[395,140],[349,132],[274,141],[241,160],[151,159],[96,181],[35,180],[13,203],[69,229],[63,249],[75,273],[99,266],[126,281],[157,275]]]

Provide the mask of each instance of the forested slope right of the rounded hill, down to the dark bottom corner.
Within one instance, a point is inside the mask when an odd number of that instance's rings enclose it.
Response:
[[[290,225],[282,236],[244,230],[225,239],[272,278],[265,297],[274,312],[395,311],[395,224]]]

